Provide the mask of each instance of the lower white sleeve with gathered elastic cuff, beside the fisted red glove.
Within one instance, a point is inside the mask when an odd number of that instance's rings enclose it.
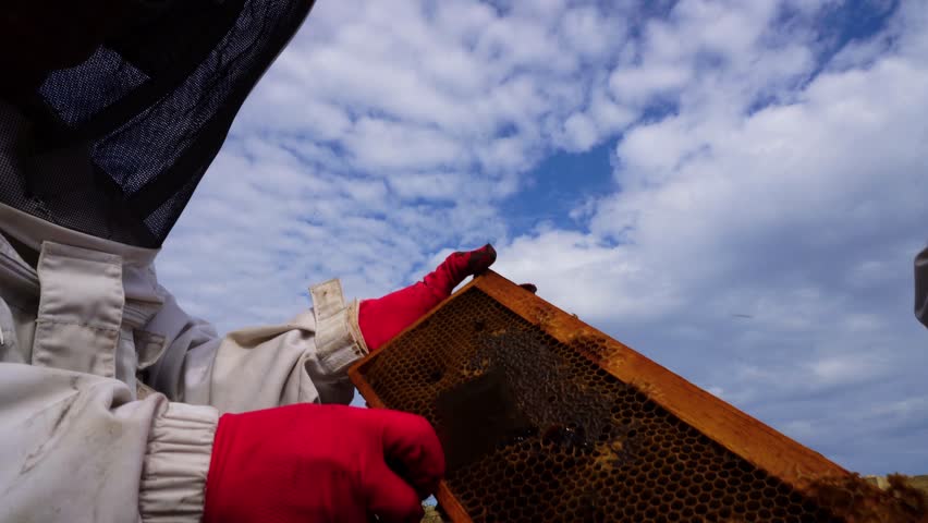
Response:
[[[0,521],[195,522],[218,413],[122,381],[0,364]]]

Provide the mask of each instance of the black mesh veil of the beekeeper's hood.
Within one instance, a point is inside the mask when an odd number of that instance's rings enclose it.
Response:
[[[0,202],[60,226],[160,246],[308,0],[181,0],[52,73],[3,137]],[[10,133],[10,126],[4,126]],[[24,135],[27,135],[24,137]],[[25,144],[25,145],[23,145]]]

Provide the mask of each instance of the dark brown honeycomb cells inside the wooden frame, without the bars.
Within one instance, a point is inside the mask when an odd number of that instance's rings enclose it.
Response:
[[[563,343],[540,320],[471,287],[361,366],[386,406],[437,428],[473,521],[844,521],[602,369],[606,340]],[[448,400],[461,390],[503,419],[489,440]]]

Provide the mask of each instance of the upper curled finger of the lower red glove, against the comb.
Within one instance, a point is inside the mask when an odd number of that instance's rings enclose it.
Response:
[[[426,497],[444,476],[444,451],[438,435],[422,416],[375,409],[382,424],[383,458],[416,492]]]

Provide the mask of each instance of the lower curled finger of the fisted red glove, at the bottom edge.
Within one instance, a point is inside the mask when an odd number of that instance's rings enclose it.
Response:
[[[413,487],[383,462],[369,470],[367,512],[384,523],[418,523],[425,515]]]

